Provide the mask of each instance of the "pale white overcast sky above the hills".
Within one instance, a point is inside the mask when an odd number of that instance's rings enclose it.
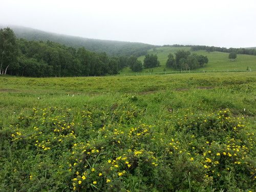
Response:
[[[256,47],[255,0],[0,0],[0,24],[153,45]]]

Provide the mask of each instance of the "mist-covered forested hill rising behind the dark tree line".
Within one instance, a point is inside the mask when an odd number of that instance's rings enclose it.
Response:
[[[0,28],[6,26],[0,25]],[[62,35],[57,33],[45,32],[37,29],[9,26],[17,36],[17,38],[25,38],[27,40],[50,40],[59,42],[66,46],[74,48],[84,47],[94,52],[105,52],[109,55],[135,55],[140,56],[146,54],[148,49],[152,49],[157,46],[143,44],[140,42],[127,42],[116,40],[100,40],[83,38],[70,35]]]

